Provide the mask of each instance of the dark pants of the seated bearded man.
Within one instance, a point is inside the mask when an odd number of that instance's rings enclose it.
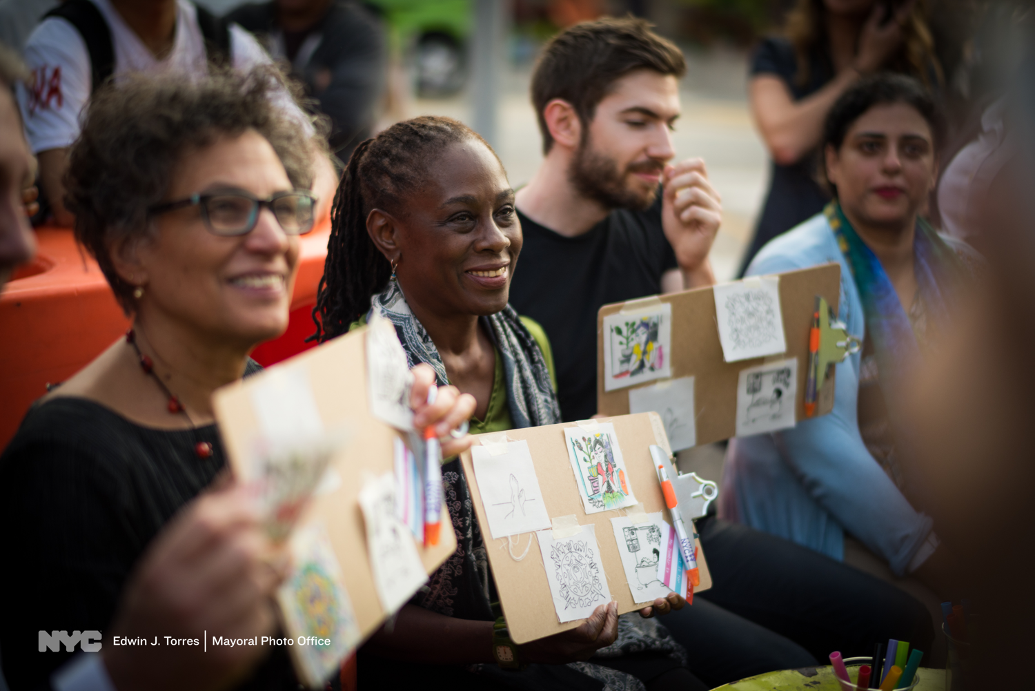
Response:
[[[698,521],[714,585],[661,618],[709,686],[776,669],[871,655],[908,640],[930,650],[930,616],[915,598],[801,545],[708,516]]]

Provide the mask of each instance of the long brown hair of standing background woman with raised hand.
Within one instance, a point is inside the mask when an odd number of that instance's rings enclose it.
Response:
[[[798,63],[798,74],[795,81],[798,86],[808,84],[808,60],[817,50],[826,50],[823,46],[826,28],[824,20],[827,9],[823,0],[798,0],[787,15],[783,31],[794,46]],[[941,85],[945,77],[942,65],[935,54],[935,39],[927,24],[927,0],[918,0],[907,18],[903,31],[905,40],[903,49],[891,64],[886,65],[891,71],[916,77],[924,86],[930,88],[931,78]]]

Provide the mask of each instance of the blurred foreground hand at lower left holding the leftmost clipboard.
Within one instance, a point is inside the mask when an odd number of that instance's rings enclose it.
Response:
[[[205,492],[170,521],[122,594],[112,633],[157,645],[105,645],[117,689],[220,689],[266,655],[266,645],[212,645],[210,636],[260,638],[276,630],[273,594],[290,559],[262,526],[247,490]],[[169,644],[166,637],[183,639]],[[106,642],[108,637],[106,636]],[[189,642],[185,642],[189,641]]]

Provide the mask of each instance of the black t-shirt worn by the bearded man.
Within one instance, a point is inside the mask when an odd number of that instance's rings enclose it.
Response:
[[[565,422],[596,413],[596,313],[661,292],[676,253],[661,230],[660,198],[646,211],[617,209],[576,237],[518,212],[525,246],[510,284],[510,305],[550,337],[557,397]]]

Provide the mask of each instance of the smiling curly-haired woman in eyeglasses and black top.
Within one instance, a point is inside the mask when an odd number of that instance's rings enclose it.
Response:
[[[37,646],[37,631],[62,630],[102,633],[115,688],[298,688],[284,647],[268,655],[264,645],[213,650],[211,641],[193,664],[154,679],[149,666],[170,645],[164,636],[201,643],[203,626],[152,627],[128,671],[126,649],[112,638],[127,626],[116,612],[135,565],[227,465],[213,391],[257,370],[248,353],[288,325],[298,236],[313,227],[315,200],[298,123],[270,103],[277,84],[269,71],[200,82],[152,76],[91,99],[70,153],[67,202],[77,238],[132,327],[40,399],[0,457],[0,651],[12,690],[46,684],[67,660],[64,647]],[[423,401],[431,368],[415,379],[414,399]],[[473,407],[440,387],[434,406],[415,405],[415,424],[448,430]],[[208,538],[195,539],[201,554]],[[180,611],[209,622],[209,636],[272,635],[279,546],[256,527],[221,558],[198,558]],[[177,673],[194,676],[177,684]]]

